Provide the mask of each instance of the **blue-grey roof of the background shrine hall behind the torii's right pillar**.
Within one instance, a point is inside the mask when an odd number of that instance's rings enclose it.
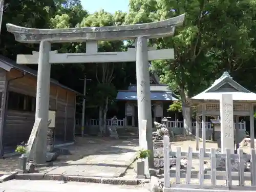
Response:
[[[137,100],[137,91],[119,91],[116,100]],[[171,91],[151,91],[151,100],[178,101]]]

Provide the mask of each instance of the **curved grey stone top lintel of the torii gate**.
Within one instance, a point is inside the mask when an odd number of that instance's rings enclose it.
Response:
[[[28,44],[39,43],[42,40],[50,42],[71,42],[86,40],[122,40],[133,39],[138,36],[148,38],[172,36],[175,26],[182,25],[185,14],[161,20],[160,22],[108,26],[108,27],[82,27],[68,29],[33,29],[7,24],[7,31],[15,35],[19,42]]]

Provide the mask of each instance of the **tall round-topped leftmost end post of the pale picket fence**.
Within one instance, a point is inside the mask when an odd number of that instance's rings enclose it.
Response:
[[[164,187],[170,187],[170,148],[169,148],[170,139],[167,135],[163,137],[163,146],[164,146]]]

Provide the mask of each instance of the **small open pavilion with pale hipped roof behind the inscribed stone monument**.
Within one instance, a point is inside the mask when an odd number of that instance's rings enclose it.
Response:
[[[239,117],[249,116],[250,119],[250,138],[251,148],[254,148],[254,117],[253,106],[256,103],[256,94],[245,89],[233,78],[224,72],[223,75],[215,80],[215,82],[198,95],[190,98],[197,106],[196,117],[196,138],[197,150],[199,149],[199,129],[202,127],[203,148],[205,148],[206,136],[206,116],[214,117],[219,120],[220,116],[220,98],[222,94],[232,95],[233,100],[233,119],[234,119],[234,136],[236,137],[236,145],[239,147],[239,142],[245,137],[245,127],[242,122],[239,122]],[[200,122],[201,117],[201,122]],[[217,130],[216,130],[217,131]],[[220,130],[218,130],[220,131]],[[242,132],[241,132],[242,131]],[[242,134],[243,133],[243,134]],[[220,133],[219,133],[220,135]]]

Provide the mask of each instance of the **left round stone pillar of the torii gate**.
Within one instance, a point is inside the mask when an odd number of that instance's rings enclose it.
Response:
[[[38,135],[34,148],[34,162],[36,164],[46,162],[51,73],[51,64],[49,63],[50,51],[51,43],[49,41],[41,41],[38,58],[35,109],[35,118],[41,118],[41,124],[38,127]]]

